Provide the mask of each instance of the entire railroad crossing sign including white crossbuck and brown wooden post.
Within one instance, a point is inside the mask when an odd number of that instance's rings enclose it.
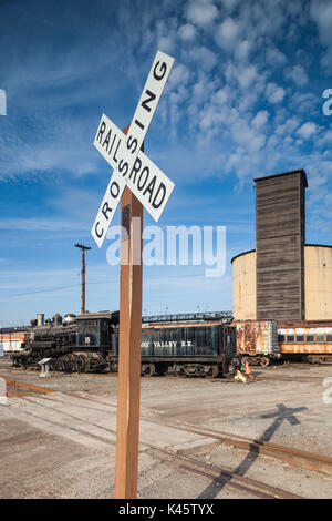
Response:
[[[122,198],[115,461],[117,499],[137,496],[143,205],[158,221],[174,188],[174,183],[144,154],[142,146],[173,63],[172,57],[158,51],[131,125],[122,132],[103,114],[94,140],[96,149],[114,168],[91,231],[98,247]],[[138,229],[133,225],[134,219]]]

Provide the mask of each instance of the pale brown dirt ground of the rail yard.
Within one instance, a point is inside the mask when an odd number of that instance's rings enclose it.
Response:
[[[173,375],[142,378],[139,498],[250,497],[168,464],[153,447],[190,453],[304,498],[332,497],[332,476],[252,457],[166,425],[177,420],[331,457],[332,366],[280,365],[253,372],[258,380],[249,385]],[[0,498],[112,498],[116,375],[42,379],[0,358],[0,377],[55,391],[27,392],[0,405]]]

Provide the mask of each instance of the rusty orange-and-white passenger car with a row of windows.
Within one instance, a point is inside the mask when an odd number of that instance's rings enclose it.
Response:
[[[282,359],[324,364],[332,361],[332,320],[278,323]]]

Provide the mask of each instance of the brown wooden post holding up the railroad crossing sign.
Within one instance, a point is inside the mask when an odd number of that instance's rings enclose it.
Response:
[[[124,133],[127,131],[128,127]],[[137,219],[139,229],[133,226],[133,218]],[[116,499],[136,498],[138,473],[143,205],[128,187],[125,187],[121,200],[121,225]]]

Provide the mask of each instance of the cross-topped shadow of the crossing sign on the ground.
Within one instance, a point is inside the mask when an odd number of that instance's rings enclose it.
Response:
[[[255,440],[255,443],[250,445],[250,449],[243,461],[241,461],[238,467],[232,471],[236,474],[245,476],[245,473],[250,469],[250,467],[255,463],[257,458],[260,453],[260,448],[257,445],[263,445],[267,441],[270,441],[272,436],[277,432],[281,423],[287,420],[291,426],[297,426],[301,423],[298,418],[294,416],[294,412],[300,412],[307,410],[307,407],[298,407],[292,409],[290,407],[286,407],[283,403],[277,403],[278,410],[276,412],[270,412],[268,415],[262,415],[261,418],[274,418],[273,423],[268,427],[262,436]],[[231,481],[231,476],[225,476],[225,473],[220,473],[220,479],[225,480],[225,483],[217,484],[214,481],[198,496],[198,499],[212,499],[219,493],[224,487]]]

